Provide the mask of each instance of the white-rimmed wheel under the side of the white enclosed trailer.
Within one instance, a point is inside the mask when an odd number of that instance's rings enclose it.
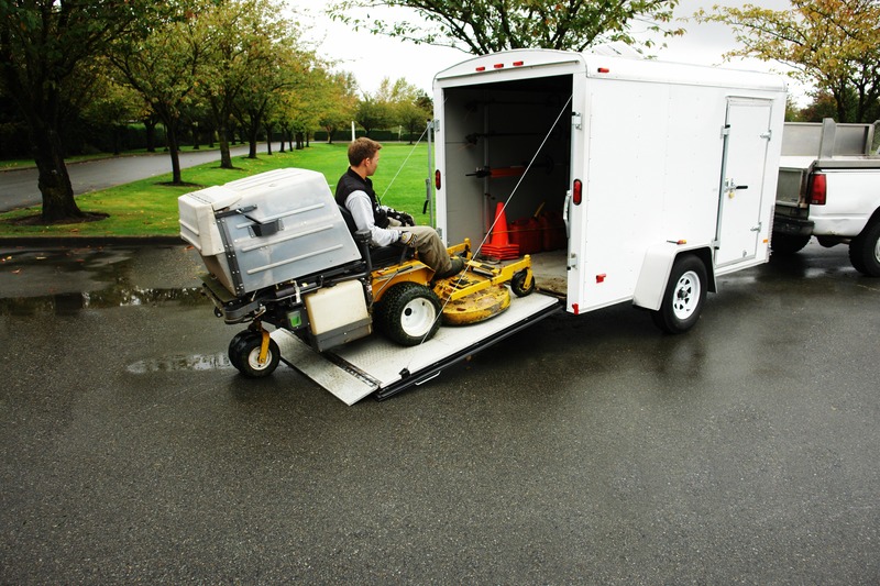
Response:
[[[672,264],[660,309],[651,312],[654,324],[671,334],[696,324],[706,300],[706,267],[696,256],[679,256]]]

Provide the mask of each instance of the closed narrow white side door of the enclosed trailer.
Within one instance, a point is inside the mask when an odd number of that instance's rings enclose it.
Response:
[[[755,258],[770,139],[770,100],[728,98],[716,266]]]

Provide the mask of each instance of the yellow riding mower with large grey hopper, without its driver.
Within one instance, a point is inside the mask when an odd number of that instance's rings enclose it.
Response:
[[[420,253],[396,242],[371,246],[337,204],[323,175],[277,169],[209,187],[178,200],[180,235],[201,255],[215,313],[250,323],[229,344],[244,376],[263,377],[280,353],[264,324],[293,332],[317,352],[353,342],[375,325],[411,346],[440,327],[483,321],[535,289],[528,256],[493,266],[470,242],[446,250],[464,270],[440,278]],[[458,259],[458,261],[457,261]]]

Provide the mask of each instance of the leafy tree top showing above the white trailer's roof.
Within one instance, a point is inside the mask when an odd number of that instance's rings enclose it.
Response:
[[[597,43],[639,42],[630,31],[640,27],[680,35],[670,29],[672,10],[679,0],[337,0],[330,14],[355,29],[431,45],[461,48],[475,55],[510,48],[556,48],[583,51]],[[386,22],[375,18],[378,7],[408,8],[416,22]],[[363,14],[359,9],[373,9]]]

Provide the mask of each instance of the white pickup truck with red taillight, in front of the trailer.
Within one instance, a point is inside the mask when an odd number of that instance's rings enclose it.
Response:
[[[880,277],[880,155],[875,124],[787,123],[771,247],[793,254],[812,236],[849,244],[859,273]],[[872,154],[873,153],[873,154]]]

